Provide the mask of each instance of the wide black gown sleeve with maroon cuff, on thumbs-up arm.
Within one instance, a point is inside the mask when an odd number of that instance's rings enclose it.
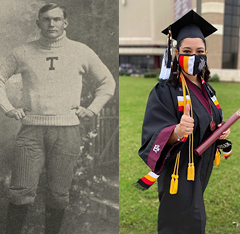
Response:
[[[166,81],[162,81],[149,95],[142,127],[142,146],[138,152],[156,174],[160,174],[170,152],[177,154],[180,151],[181,142],[167,145],[178,123],[177,97],[174,97]]]

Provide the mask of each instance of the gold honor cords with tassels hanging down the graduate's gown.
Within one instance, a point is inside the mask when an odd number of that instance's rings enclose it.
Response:
[[[189,104],[191,108],[190,116],[193,118],[190,92],[183,75],[181,74],[180,77],[182,79],[182,90],[183,90],[183,103],[184,103],[183,111],[185,113],[186,104],[188,103],[187,95],[186,95],[186,90],[187,90],[187,93],[189,95]],[[185,137],[188,137],[188,135],[185,135]],[[176,194],[178,191],[178,178],[179,178],[178,169],[179,169],[179,162],[180,162],[180,154],[181,154],[181,151],[176,156],[176,161],[175,161],[171,184],[170,184],[170,191],[169,191],[170,194]],[[189,135],[189,163],[188,163],[187,180],[194,181],[194,179],[195,179],[195,167],[194,167],[194,159],[193,159],[193,133],[192,133],[191,135]]]

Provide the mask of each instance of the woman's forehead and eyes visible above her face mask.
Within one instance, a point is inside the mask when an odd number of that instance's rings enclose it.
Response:
[[[179,47],[179,51],[176,50],[177,58],[179,54],[206,54],[205,44],[201,38],[185,38],[183,39],[182,44]]]

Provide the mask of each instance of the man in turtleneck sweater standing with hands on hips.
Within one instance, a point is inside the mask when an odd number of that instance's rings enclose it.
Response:
[[[7,117],[22,122],[16,139],[6,233],[21,232],[44,165],[45,233],[59,233],[80,153],[80,120],[97,114],[114,94],[115,82],[107,67],[89,47],[66,37],[67,25],[64,7],[45,5],[37,20],[41,38],[14,49],[0,66],[0,107]],[[5,83],[14,74],[22,75],[21,108],[11,105],[5,91]],[[99,84],[87,108],[80,103],[84,74]]]

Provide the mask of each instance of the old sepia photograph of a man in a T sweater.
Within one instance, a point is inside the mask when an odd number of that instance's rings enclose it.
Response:
[[[0,232],[118,233],[118,1],[0,3]]]

